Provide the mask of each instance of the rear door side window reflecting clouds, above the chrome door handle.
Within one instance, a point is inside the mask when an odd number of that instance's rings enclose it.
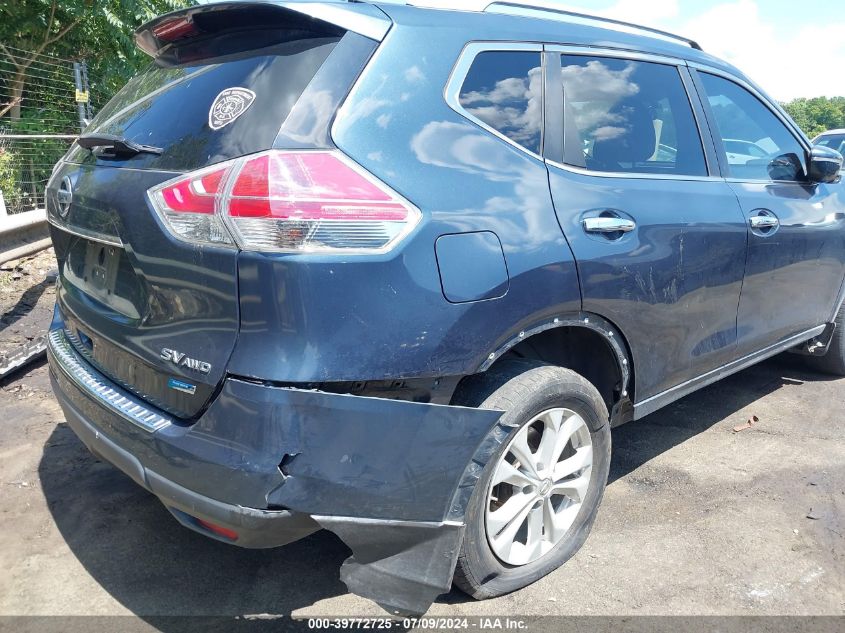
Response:
[[[568,164],[599,172],[707,175],[675,66],[562,55],[561,78]]]

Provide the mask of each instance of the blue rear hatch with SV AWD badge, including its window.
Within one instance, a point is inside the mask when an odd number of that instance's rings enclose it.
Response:
[[[176,416],[196,416],[224,377],[238,334],[238,250],[214,236],[178,239],[148,191],[271,148],[343,36],[272,5],[160,18],[138,35],[156,55],[149,69],[88,126],[91,146],[74,145],[50,179],[66,332],[106,376]]]

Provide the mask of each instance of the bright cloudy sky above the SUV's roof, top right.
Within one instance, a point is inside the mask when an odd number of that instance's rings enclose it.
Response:
[[[845,96],[842,0],[566,0],[697,40],[780,101]]]

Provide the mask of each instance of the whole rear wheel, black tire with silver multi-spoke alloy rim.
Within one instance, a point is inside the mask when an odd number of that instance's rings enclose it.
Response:
[[[505,361],[470,379],[460,404],[514,426],[470,499],[455,584],[484,599],[525,587],[571,558],[598,511],[610,465],[607,407],[568,369]]]

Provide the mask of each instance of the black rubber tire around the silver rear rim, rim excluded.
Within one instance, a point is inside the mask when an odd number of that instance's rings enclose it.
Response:
[[[598,390],[568,369],[531,360],[507,360],[464,381],[455,404],[502,409],[502,422],[516,425],[485,467],[466,513],[466,532],[454,583],[477,600],[511,593],[551,573],[583,545],[593,526],[607,485],[610,467],[610,425],[607,406]],[[510,438],[535,416],[550,408],[565,407],[581,415],[593,444],[593,471],[584,502],[572,527],[546,555],[522,566],[504,563],[493,553],[485,530],[488,487],[496,464]]]

